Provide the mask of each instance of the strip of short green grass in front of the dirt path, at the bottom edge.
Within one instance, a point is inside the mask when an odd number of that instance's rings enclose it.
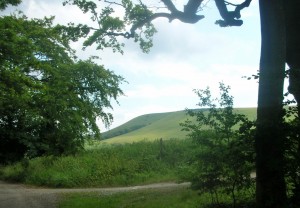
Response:
[[[199,208],[206,204],[205,196],[187,188],[131,191],[112,195],[66,194],[59,208]]]

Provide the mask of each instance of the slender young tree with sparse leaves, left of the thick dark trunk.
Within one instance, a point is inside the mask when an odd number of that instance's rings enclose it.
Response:
[[[184,179],[192,188],[209,192],[217,204],[218,193],[225,192],[237,207],[243,200],[238,193],[253,185],[254,122],[235,112],[229,86],[220,83],[219,89],[219,98],[212,98],[209,88],[195,90],[201,109],[187,110],[192,120],[181,124],[198,146],[196,156],[189,159],[192,174]]]

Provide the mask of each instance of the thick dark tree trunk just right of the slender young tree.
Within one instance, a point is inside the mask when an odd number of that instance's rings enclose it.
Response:
[[[284,134],[282,125],[285,71],[283,0],[259,0],[261,57],[257,109],[256,202],[259,208],[284,208]]]

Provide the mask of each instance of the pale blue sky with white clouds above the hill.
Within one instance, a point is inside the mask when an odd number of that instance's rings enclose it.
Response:
[[[175,2],[181,9],[187,1]],[[60,24],[90,22],[88,14],[75,6],[62,6],[62,0],[23,0],[18,7],[9,7],[3,13],[9,14],[17,8],[30,18],[54,15],[55,22]],[[121,85],[125,96],[119,97],[119,104],[112,101],[113,110],[107,110],[114,116],[110,129],[144,114],[197,108],[198,97],[193,89],[209,86],[212,94],[218,96],[219,82],[231,87],[235,107],[257,106],[257,81],[242,77],[256,74],[259,69],[258,1],[252,0],[250,7],[242,10],[244,24],[241,27],[215,25],[221,18],[212,0],[199,14],[205,18],[197,24],[155,20],[158,32],[148,54],[133,40],[125,40],[123,55],[110,49],[95,50],[95,47],[83,51],[82,42],[72,43],[79,58],[99,56],[98,64],[128,82]],[[107,130],[100,121],[99,126],[101,131]]]

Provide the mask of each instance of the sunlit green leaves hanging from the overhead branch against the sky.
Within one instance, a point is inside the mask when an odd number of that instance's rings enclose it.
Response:
[[[66,4],[76,5],[84,13],[89,13],[91,20],[97,25],[97,27],[69,25],[68,31],[71,33],[73,31],[73,34],[82,34],[82,29],[88,31],[83,32],[86,38],[84,48],[96,44],[98,50],[112,48],[113,52],[123,53],[124,42],[118,38],[120,36],[134,38],[145,53],[153,46],[153,35],[156,30],[151,24],[152,12],[141,1],[94,3],[86,0],[69,0],[64,2],[64,5]]]

